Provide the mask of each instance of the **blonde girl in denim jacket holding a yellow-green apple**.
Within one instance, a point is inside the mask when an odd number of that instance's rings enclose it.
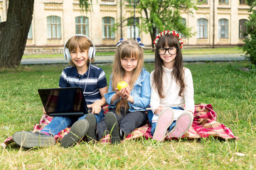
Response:
[[[106,132],[110,133],[112,143],[120,142],[135,128],[146,124],[150,81],[149,72],[143,67],[142,47],[140,38],[137,42],[121,38],[117,43],[110,86],[104,95],[110,111],[97,124],[99,139]]]

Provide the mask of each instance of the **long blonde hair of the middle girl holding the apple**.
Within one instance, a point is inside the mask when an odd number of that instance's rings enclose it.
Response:
[[[142,67],[144,64],[144,55],[142,47],[135,40],[126,40],[122,42],[122,45],[117,47],[117,52],[114,55],[114,62],[112,66],[112,90],[117,88],[119,81],[124,81],[125,70],[122,68],[121,60],[124,57],[134,57],[138,60],[137,67],[133,70],[132,79],[129,81],[129,87],[132,89],[135,81],[137,81]],[[121,99],[117,104],[117,114],[120,114],[121,103],[124,100]],[[125,111],[129,108],[127,101],[125,101]]]

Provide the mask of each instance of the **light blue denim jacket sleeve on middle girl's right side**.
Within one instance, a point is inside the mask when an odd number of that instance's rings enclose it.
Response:
[[[134,110],[145,110],[150,103],[150,79],[149,72],[144,71],[142,80],[133,87],[134,103],[129,103]]]

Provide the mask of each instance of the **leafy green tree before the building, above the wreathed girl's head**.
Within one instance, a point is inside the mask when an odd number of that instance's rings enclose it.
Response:
[[[154,47],[156,33],[162,30],[176,30],[183,35],[190,35],[190,28],[182,23],[181,11],[192,13],[196,4],[190,0],[141,0],[138,7],[145,18],[141,17],[140,28],[150,34],[151,45]]]

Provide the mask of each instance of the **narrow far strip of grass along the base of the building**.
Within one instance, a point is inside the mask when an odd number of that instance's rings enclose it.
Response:
[[[210,54],[233,54],[233,53],[243,53],[240,47],[225,47],[225,48],[184,48],[182,50],[183,55],[210,55]],[[154,52],[151,50],[145,50],[144,55],[153,55]],[[114,52],[96,52],[96,56],[108,56],[114,55]],[[53,55],[23,55],[23,59],[26,58],[56,58],[63,57],[63,54],[53,54]]]

